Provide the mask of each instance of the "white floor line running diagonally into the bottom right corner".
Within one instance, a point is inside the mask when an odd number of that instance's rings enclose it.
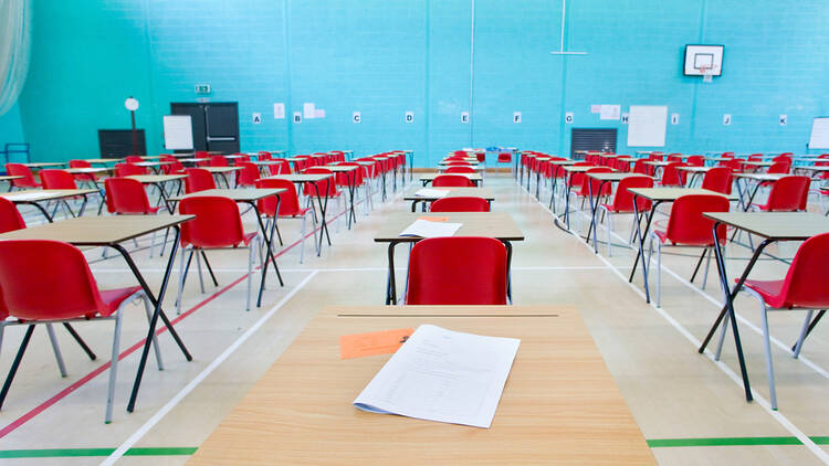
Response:
[[[522,187],[522,188],[523,188],[523,187]],[[525,189],[525,191],[526,191],[526,189]],[[528,191],[527,191],[527,192],[528,192]],[[533,194],[532,194],[531,192],[528,192],[528,194],[531,195],[531,198],[535,199],[535,197],[533,197]],[[536,201],[537,201],[537,200],[536,200]],[[542,206],[542,209],[544,209],[544,210],[546,210],[547,212],[549,212],[549,214],[550,214],[550,215],[554,215],[554,216],[556,215],[555,213],[553,213],[553,211],[550,211],[549,209],[547,209],[547,206],[546,206],[546,205],[544,205],[544,203],[542,203],[542,202],[538,202],[538,204],[539,204],[539,205]],[[590,251],[592,252],[592,246],[591,246],[591,245],[590,245],[589,243],[585,242],[585,241],[584,241],[584,240],[581,239],[581,236],[579,236],[579,235],[578,235],[578,233],[576,233],[576,232],[571,232],[571,233],[574,233],[574,236],[576,237],[576,240],[577,240],[577,241],[578,241],[579,243],[581,243],[581,244],[583,244],[583,245],[584,245],[585,247],[589,248],[589,250],[590,250]],[[636,292],[636,293],[637,293],[637,294],[638,294],[639,296],[641,296],[641,297],[642,297],[642,299],[644,299],[644,292],[642,292],[641,289],[639,289],[638,287],[636,287],[636,286],[634,286],[634,285],[633,285],[632,283],[629,283],[629,282],[628,282],[628,278],[627,278],[627,277],[625,277],[625,276],[623,276],[623,275],[622,275],[622,274],[621,274],[621,273],[620,273],[620,272],[619,272],[619,271],[618,271],[618,269],[617,269],[616,267],[613,267],[613,266],[612,266],[612,264],[610,264],[610,262],[608,262],[608,260],[607,260],[607,258],[605,258],[605,257],[604,257],[604,256],[601,256],[600,254],[596,254],[596,257],[597,257],[597,258],[598,258],[599,261],[601,261],[602,263],[605,263],[605,264],[606,264],[607,266],[609,266],[610,268],[612,268],[612,269],[613,269],[613,273],[615,273],[615,274],[616,274],[616,275],[617,275],[617,276],[618,276],[618,277],[619,277],[619,278],[620,278],[620,279],[621,279],[622,282],[625,282],[625,283],[626,283],[626,284],[627,284],[627,285],[628,285],[628,286],[629,286],[629,287],[630,287],[630,288],[631,288],[631,289],[632,289],[633,292]],[[664,269],[664,267],[663,267],[663,269]],[[706,296],[707,296],[707,295],[706,295]],[[709,298],[710,298],[710,296],[709,296]],[[688,331],[688,329],[685,329],[685,328],[684,328],[684,327],[683,327],[683,326],[682,326],[682,325],[681,325],[680,322],[678,322],[678,321],[676,321],[676,320],[675,320],[675,319],[674,319],[673,317],[671,317],[671,316],[670,316],[670,315],[669,315],[669,314],[668,314],[668,313],[667,313],[667,311],[664,310],[664,308],[658,308],[658,307],[657,307],[657,306],[655,306],[655,305],[654,305],[653,303],[651,303],[651,304],[650,304],[650,307],[651,307],[652,309],[654,309],[654,310],[655,310],[655,311],[657,311],[657,313],[658,313],[658,314],[659,314],[660,316],[662,316],[662,318],[663,318],[663,319],[665,319],[665,320],[667,320],[667,321],[668,321],[668,322],[669,322],[669,324],[670,324],[670,325],[671,325],[671,326],[672,326],[672,327],[673,327],[673,328],[674,328],[674,329],[675,329],[675,330],[676,330],[676,331],[678,331],[678,332],[679,332],[680,335],[682,335],[683,337],[685,337],[685,339],[686,339],[688,341],[690,341],[690,342],[691,342],[691,345],[693,345],[693,346],[694,346],[694,348],[699,348],[699,347],[700,347],[700,345],[701,345],[701,341],[700,341],[700,340],[697,340],[697,339],[696,339],[696,337],[694,337],[694,336],[693,336],[693,335],[692,335],[692,333],[691,333],[690,331]],[[725,373],[725,374],[726,374],[726,375],[727,375],[727,377],[728,377],[728,378],[730,378],[730,379],[731,379],[732,381],[734,381],[734,383],[735,383],[735,384],[737,384],[737,385],[738,385],[738,386],[741,386],[741,388],[743,386],[743,379],[742,379],[741,377],[738,377],[738,375],[737,375],[737,374],[736,374],[736,373],[735,373],[735,372],[734,372],[734,371],[733,371],[733,370],[732,370],[732,369],[731,369],[731,368],[730,368],[728,366],[726,366],[726,364],[725,364],[725,363],[724,363],[723,361],[715,361],[715,360],[714,360],[714,354],[713,354],[713,353],[712,353],[711,351],[709,351],[709,350],[705,350],[705,357],[707,357],[707,358],[709,358],[709,359],[710,359],[711,361],[713,361],[713,362],[714,362],[714,364],[715,364],[715,366],[716,366],[717,368],[720,368],[720,370],[722,370],[722,371],[723,371],[723,372],[724,372],[724,373]],[[823,449],[822,449],[821,447],[819,447],[819,446],[818,446],[817,444],[815,444],[815,442],[812,442],[812,441],[811,441],[811,438],[809,438],[809,436],[808,436],[808,435],[806,435],[806,434],[805,434],[805,433],[804,433],[802,431],[800,431],[800,430],[799,430],[799,428],[798,428],[798,427],[797,427],[797,426],[796,426],[795,424],[793,424],[793,423],[791,423],[791,421],[789,421],[789,420],[788,420],[788,419],[787,419],[786,416],[784,416],[784,415],[783,415],[783,414],[781,414],[781,413],[780,413],[779,411],[774,411],[774,410],[772,410],[772,405],[770,405],[770,404],[768,403],[768,401],[767,401],[766,399],[764,399],[763,396],[760,396],[760,395],[759,395],[759,394],[758,394],[758,393],[757,393],[757,392],[756,392],[755,390],[753,390],[753,389],[752,389],[752,396],[753,396],[753,398],[754,398],[754,400],[755,400],[755,401],[757,402],[757,404],[759,404],[759,405],[760,405],[760,406],[762,406],[762,407],[763,407],[763,409],[764,409],[764,410],[765,410],[765,411],[766,411],[766,412],[767,412],[767,413],[768,413],[768,414],[769,414],[769,415],[770,415],[770,416],[772,416],[772,417],[773,417],[773,419],[774,419],[775,421],[777,421],[777,422],[778,422],[778,423],[779,423],[779,424],[780,424],[780,425],[781,425],[781,426],[783,426],[783,427],[784,427],[785,430],[787,430],[787,431],[788,431],[789,433],[791,433],[791,434],[793,434],[793,435],[794,435],[795,437],[797,437],[797,438],[798,438],[798,439],[799,439],[799,441],[800,441],[800,442],[801,442],[801,443],[804,444],[804,446],[805,446],[805,447],[807,447],[807,448],[808,448],[808,449],[809,449],[809,451],[810,451],[810,452],[811,452],[811,453],[812,453],[812,454],[814,454],[815,456],[817,456],[817,457],[818,457],[818,459],[820,459],[821,462],[823,462],[823,464],[827,464],[827,465],[829,465],[829,453],[825,452],[825,451],[823,451]]]

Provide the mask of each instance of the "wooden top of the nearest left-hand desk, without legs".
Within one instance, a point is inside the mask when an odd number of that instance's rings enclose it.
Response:
[[[196,215],[78,216],[0,234],[0,240],[52,240],[76,246],[117,244],[178,225]]]

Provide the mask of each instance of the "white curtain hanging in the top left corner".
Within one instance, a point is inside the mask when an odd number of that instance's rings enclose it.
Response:
[[[29,72],[30,0],[0,0],[0,115],[17,102]]]

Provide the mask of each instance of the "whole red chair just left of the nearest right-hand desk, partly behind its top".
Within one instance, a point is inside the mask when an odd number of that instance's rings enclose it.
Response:
[[[714,227],[714,221],[703,216],[703,212],[728,212],[731,203],[728,199],[716,194],[689,194],[679,198],[671,206],[671,215],[668,218],[668,229],[665,231],[653,230],[651,232],[648,263],[653,258],[653,243],[657,243],[657,307],[662,307],[662,247],[668,246],[690,246],[702,247],[702,257],[707,254],[705,273],[702,278],[702,287],[709,278],[709,268],[711,265],[711,253],[714,246],[714,237],[711,232]],[[717,237],[721,243],[726,240],[725,225],[717,227]],[[652,268],[651,268],[652,269]],[[691,277],[694,280],[696,271]],[[647,284],[646,284],[647,286]]]

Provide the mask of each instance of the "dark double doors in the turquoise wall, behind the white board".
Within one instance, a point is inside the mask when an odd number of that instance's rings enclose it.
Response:
[[[170,113],[172,115],[190,115],[192,119],[192,144],[196,150],[239,151],[238,103],[172,103],[170,104]]]

